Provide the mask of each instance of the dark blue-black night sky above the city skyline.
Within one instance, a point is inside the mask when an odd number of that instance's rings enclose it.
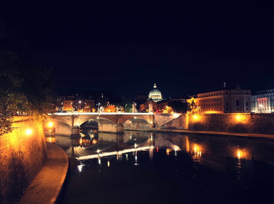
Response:
[[[60,92],[274,88],[273,1],[1,1]]]

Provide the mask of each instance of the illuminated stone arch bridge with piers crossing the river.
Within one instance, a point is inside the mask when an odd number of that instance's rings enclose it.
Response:
[[[56,134],[79,135],[80,125],[88,120],[98,123],[99,132],[123,133],[123,123],[142,123],[149,128],[154,127],[153,113],[56,113],[52,122]]]

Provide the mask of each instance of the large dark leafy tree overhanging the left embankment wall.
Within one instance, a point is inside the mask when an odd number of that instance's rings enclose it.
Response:
[[[42,63],[25,60],[3,29],[0,30],[0,134],[11,132],[13,115],[25,113],[35,126],[49,118],[53,110],[51,70]],[[12,44],[12,43],[11,43]],[[20,58],[18,54],[20,54]],[[27,53],[27,51],[26,51]],[[26,54],[27,55],[27,54]],[[27,57],[26,57],[27,58]],[[24,60],[23,60],[24,59]]]

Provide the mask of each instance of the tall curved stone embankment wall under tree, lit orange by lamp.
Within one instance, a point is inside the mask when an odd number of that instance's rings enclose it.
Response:
[[[28,116],[14,117],[13,132],[0,135],[0,203],[14,203],[47,161],[44,128],[35,129]],[[31,129],[27,135],[25,131]]]

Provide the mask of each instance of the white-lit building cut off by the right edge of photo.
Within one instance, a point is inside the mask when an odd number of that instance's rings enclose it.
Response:
[[[274,112],[274,90],[258,91],[251,96],[252,113],[273,113]]]

